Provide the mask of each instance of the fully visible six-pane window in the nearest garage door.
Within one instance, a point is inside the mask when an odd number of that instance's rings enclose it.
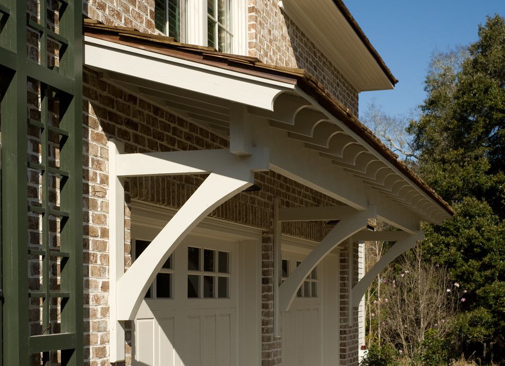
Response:
[[[188,247],[188,298],[230,297],[230,253]]]

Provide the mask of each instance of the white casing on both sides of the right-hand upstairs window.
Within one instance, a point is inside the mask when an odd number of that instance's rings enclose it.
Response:
[[[232,54],[247,56],[247,2],[231,0]],[[207,46],[207,0],[188,0],[186,39],[189,44]]]

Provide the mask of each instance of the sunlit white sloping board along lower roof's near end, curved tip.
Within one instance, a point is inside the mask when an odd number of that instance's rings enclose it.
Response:
[[[214,95],[247,106],[273,110],[275,97],[283,91],[293,90],[294,87],[289,83],[178,59],[89,36],[84,38],[86,66]]]

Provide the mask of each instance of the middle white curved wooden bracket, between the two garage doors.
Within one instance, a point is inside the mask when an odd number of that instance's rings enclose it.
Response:
[[[274,228],[280,231],[279,222],[282,221],[306,221],[306,220],[339,220],[339,223],[324,237],[324,239],[312,250],[311,253],[296,267],[290,276],[279,286],[278,311],[274,313],[277,321],[280,320],[281,312],[288,311],[296,295],[298,287],[302,284],[309,273],[330,253],[335,247],[353,234],[367,226],[369,218],[376,217],[375,206],[369,206],[365,211],[357,211],[347,206],[335,207],[296,207],[277,208],[278,219]],[[274,233],[274,238],[280,234]],[[280,242],[280,239],[279,239]],[[280,247],[280,245],[279,245]],[[280,249],[279,249],[280,251]],[[277,258],[277,257],[275,257]],[[277,262],[280,260],[277,258]],[[274,264],[280,268],[280,263]],[[280,269],[277,269],[279,271]]]

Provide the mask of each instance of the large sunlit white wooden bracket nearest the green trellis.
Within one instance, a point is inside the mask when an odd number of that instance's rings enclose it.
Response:
[[[121,154],[109,141],[110,185],[110,362],[124,360],[125,320],[133,320],[166,259],[189,232],[220,204],[253,185],[254,172],[269,169],[268,150],[248,156],[228,149]],[[124,189],[128,176],[209,174],[128,271],[124,272]]]

